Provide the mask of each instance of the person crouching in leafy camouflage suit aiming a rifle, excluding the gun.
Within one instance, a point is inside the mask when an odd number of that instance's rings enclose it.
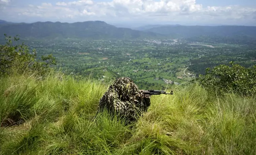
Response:
[[[107,108],[110,113],[116,113],[127,121],[136,121],[149,106],[150,96],[144,95],[132,79],[120,77],[101,97],[98,112]]]

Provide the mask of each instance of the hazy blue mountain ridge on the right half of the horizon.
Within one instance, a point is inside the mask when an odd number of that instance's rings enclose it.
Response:
[[[164,34],[172,38],[190,38],[196,36],[248,36],[256,38],[256,26],[161,26],[145,30]]]

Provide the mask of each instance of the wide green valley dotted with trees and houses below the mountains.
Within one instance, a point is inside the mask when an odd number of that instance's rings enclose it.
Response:
[[[57,69],[76,77],[92,76],[108,83],[127,76],[143,89],[188,84],[205,68],[230,61],[250,67],[256,62],[255,45],[166,40],[23,40],[38,56],[53,54]],[[186,74],[184,74],[184,70]]]

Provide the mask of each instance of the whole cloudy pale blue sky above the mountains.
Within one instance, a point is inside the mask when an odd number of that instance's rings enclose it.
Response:
[[[256,0],[0,0],[0,19],[256,26]]]

